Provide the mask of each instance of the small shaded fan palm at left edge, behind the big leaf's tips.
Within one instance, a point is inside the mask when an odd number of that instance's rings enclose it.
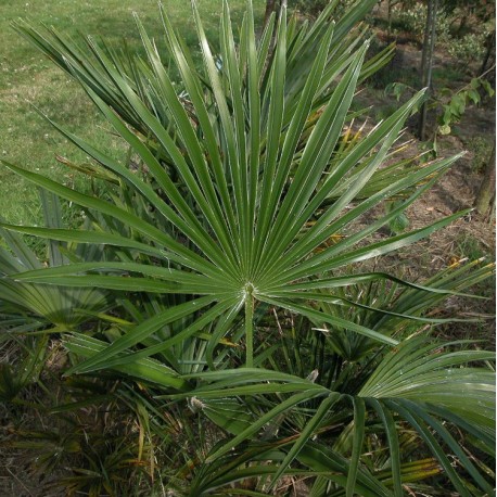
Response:
[[[59,199],[42,192],[41,200],[47,225],[61,226]],[[39,381],[49,336],[79,329],[95,314],[106,310],[110,303],[107,294],[98,289],[63,289],[14,281],[17,272],[36,270],[43,265],[67,265],[68,259],[58,242],[48,243],[44,260],[17,233],[2,228],[0,233],[7,245],[7,248],[0,247],[0,351],[15,357],[12,362],[16,362],[15,366],[0,362],[0,399],[17,402],[15,397],[25,386]],[[74,256],[81,256],[79,252]],[[98,256],[98,251],[82,252],[87,258]]]

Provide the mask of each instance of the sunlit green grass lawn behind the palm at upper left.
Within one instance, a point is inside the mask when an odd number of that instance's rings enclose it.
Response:
[[[222,2],[202,0],[199,3],[207,36],[216,40]],[[190,2],[167,0],[165,5],[181,36],[194,48],[196,37]],[[230,0],[233,20],[241,18],[244,5],[245,0]],[[264,5],[264,0],[254,0],[259,17]],[[124,157],[124,146],[104,126],[84,91],[17,35],[11,22],[24,17],[36,25],[52,25],[72,37],[77,38],[79,31],[103,36],[112,43],[126,39],[131,47],[138,47],[133,11],[138,12],[149,34],[161,40],[162,27],[155,0],[0,0],[0,154],[4,161],[64,178],[68,184],[79,183],[80,188],[88,182],[87,178],[78,177],[58,163],[56,155],[76,163],[86,157],[61,137],[34,105],[105,152]],[[41,221],[36,188],[3,166],[0,166],[0,216],[14,224]]]

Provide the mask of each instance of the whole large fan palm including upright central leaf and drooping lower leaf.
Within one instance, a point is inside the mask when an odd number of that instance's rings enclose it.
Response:
[[[114,320],[106,334],[67,334],[67,349],[86,360],[76,360],[66,374],[112,369],[135,377],[168,402],[188,398],[190,407],[229,434],[200,461],[184,488],[188,495],[267,495],[284,474],[313,476],[316,496],[402,495],[403,484],[442,470],[461,495],[471,495],[473,486],[490,490],[438,418],[490,451],[493,374],[464,365],[489,360],[492,354],[450,349],[459,344],[442,352],[439,344],[407,337],[405,331],[406,322],[419,330],[445,321],[422,311],[470,281],[466,275],[447,276],[426,286],[357,265],[466,214],[370,239],[457,157],[407,169],[397,162],[388,176],[382,171],[422,92],[366,136],[347,140],[357,85],[382,59],[365,64],[368,43],[347,38],[374,1],[357,2],[330,23],[336,4],[313,27],[288,23],[283,9],[257,40],[248,1],[237,48],[224,3],[214,55],[193,2],[199,68],[163,8],[167,55],[137,18],[146,61],[131,58],[127,64],[92,41],[94,60],[55,33],[50,41],[17,24],[81,84],[142,167],[132,170],[56,124],[112,174],[117,192],[93,197],[3,162],[81,206],[91,220],[80,230],[5,224],[4,229],[102,247],[99,258],[17,269],[12,278],[34,288],[113,292],[127,320]],[[167,58],[178,85],[165,66]],[[355,228],[362,215],[392,200],[394,208]],[[485,267],[475,278],[492,271]],[[379,306],[373,298],[359,298],[355,289],[361,285],[398,285],[406,293],[395,305],[385,300]],[[259,326],[272,309],[281,319],[298,317],[303,326],[296,335],[323,337],[322,354],[349,364],[335,367],[328,383],[315,381],[316,373],[306,378],[310,370],[284,372],[281,342],[268,340]],[[344,351],[357,337],[353,348],[360,351],[347,356]],[[406,425],[441,469],[433,459],[404,458]],[[374,433],[390,454],[382,466],[381,457],[372,463],[365,454]],[[446,447],[467,472],[463,477],[453,469]],[[251,488],[227,486],[252,479],[258,480]]]

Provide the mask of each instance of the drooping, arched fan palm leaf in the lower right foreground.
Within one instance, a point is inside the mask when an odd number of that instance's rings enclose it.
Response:
[[[320,476],[311,495],[352,496],[360,493],[377,496],[392,495],[392,489],[395,495],[402,495],[403,484],[434,474],[433,462],[420,461],[418,471],[406,471],[412,461],[403,460],[399,438],[404,431],[413,430],[461,495],[473,494],[469,490],[468,482],[462,481],[454,470],[447,450],[455,455],[458,463],[482,492],[492,494],[492,484],[485,473],[482,474],[481,468],[468,457],[454,433],[447,430],[446,423],[453,423],[474,436],[485,450],[494,453],[495,375],[486,368],[468,367],[468,364],[494,359],[495,354],[484,351],[451,351],[457,345],[460,344],[455,342],[442,346],[441,343],[428,343],[419,336],[405,340],[384,356],[368,381],[353,396],[345,392],[330,391],[310,380],[263,369],[225,370],[187,377],[201,380],[201,386],[187,395],[193,396],[196,405],[209,418],[217,420],[219,425],[226,424],[229,419],[237,419],[235,413],[239,411],[245,412],[245,416],[250,412],[241,400],[234,402],[235,398],[253,398],[254,402],[248,402],[247,406],[259,406],[259,411],[253,411],[245,424],[232,425],[235,436],[215,447],[205,464],[218,464],[234,448],[240,450],[243,442],[253,441],[278,416],[284,415],[288,422],[298,419],[297,406],[319,399],[318,408],[313,410],[310,418],[301,428],[294,428],[296,435],[289,439],[275,434],[269,439],[263,436],[259,445],[253,442],[254,445],[245,449],[250,453],[252,447],[259,447],[259,458],[265,457],[263,447],[270,453],[266,458],[278,462],[273,471],[273,484],[296,459]],[[279,402],[269,404],[273,407],[265,410],[263,406],[267,402],[264,403],[262,398],[271,398],[272,394],[278,394]],[[175,395],[173,398],[183,395]],[[234,404],[222,404],[224,408],[218,409],[213,404],[214,399],[232,399]],[[352,424],[348,424],[347,430],[345,423],[343,431],[345,436],[351,437],[349,458],[341,454],[343,450],[336,444],[334,450],[330,450],[326,434],[330,430],[328,426],[337,422],[339,413],[346,412],[344,403],[351,403],[354,407]],[[209,410],[214,410],[214,413]],[[386,436],[391,477],[384,473],[382,480],[370,475],[361,463],[367,424],[371,423],[371,419],[378,419],[383,425],[383,430],[378,426],[374,429],[374,436],[382,431]],[[445,449],[445,446],[448,448]],[[273,453],[275,449],[278,449],[278,454]],[[242,464],[242,461],[239,463]],[[211,485],[213,474],[208,470],[200,472],[199,477],[201,474],[204,474],[204,484]],[[367,484],[365,477],[369,480]],[[318,492],[322,479],[337,486],[332,490],[332,485],[327,490],[324,485],[324,489]]]

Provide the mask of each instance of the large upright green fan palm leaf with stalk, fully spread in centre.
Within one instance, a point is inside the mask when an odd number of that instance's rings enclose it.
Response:
[[[189,243],[181,243],[177,240],[178,237],[175,239],[152,222],[144,222],[132,209],[75,192],[55,181],[7,164],[12,170],[36,184],[88,209],[117,219],[127,227],[125,235],[111,232],[109,237],[98,231],[71,233],[62,229],[23,229],[24,232],[42,233],[54,240],[65,239],[76,243],[97,242],[127,246],[144,254],[154,253],[154,257],[160,262],[158,266],[138,263],[115,263],[109,266],[102,263],[93,266],[74,265],[54,270],[28,271],[17,275],[17,279],[81,288],[98,284],[100,288],[112,290],[128,288],[158,293],[203,294],[205,296],[202,298],[182,304],[182,308],[189,309],[186,310],[187,314],[197,313],[202,306],[213,303],[217,303],[218,311],[217,316],[216,313],[209,315],[213,320],[238,311],[245,313],[245,360],[248,367],[253,365],[252,314],[257,302],[278,305],[308,317],[319,318],[341,329],[353,330],[382,343],[395,344],[396,340],[385,333],[316,310],[308,301],[319,302],[326,298],[319,293],[307,292],[306,281],[328,275],[321,285],[319,279],[314,281],[314,289],[347,284],[345,281],[333,280],[330,271],[412,243],[446,226],[457,216],[411,233],[351,250],[387,222],[390,217],[395,216],[394,211],[379,219],[371,228],[349,234],[342,243],[329,246],[319,254],[315,253],[315,248],[334,233],[346,229],[349,222],[381,201],[418,184],[426,177],[439,175],[455,158],[439,161],[416,175],[400,178],[377,194],[358,202],[352,211],[344,211],[382,165],[398,138],[405,119],[422,94],[416,95],[378,125],[364,140],[347,150],[346,154],[342,154],[329,170],[330,160],[347,119],[361,74],[367,50],[365,43],[347,55],[342,76],[333,91],[327,94],[320,116],[302,154],[295,155],[314,105],[323,97],[321,82],[327,74],[331,41],[336,28],[333,25],[319,28],[320,33],[322,31],[319,51],[309,69],[305,72],[301,98],[285,120],[283,115],[290,105],[285,99],[286,67],[291,63],[295,64],[297,60],[296,41],[289,52],[283,10],[276,28],[275,50],[266,69],[267,81],[262,85],[263,64],[258,59],[262,54],[256,49],[250,4],[248,8],[243,30],[245,38],[240,43],[246,52],[242,54],[235,50],[229,10],[225,4],[220,29],[220,72],[218,60],[211,51],[193,3],[203,56],[202,75],[189,64],[190,58],[184,54],[183,44],[170,26],[164,10],[162,11],[168,48],[193,109],[190,114],[187,113],[182,99],[177,94],[164,69],[158,50],[138,23],[154,72],[154,85],[160,92],[157,94],[163,98],[169,122],[174,123],[177,130],[174,135],[170,128],[165,128],[161,119],[142,102],[136,88],[119,67],[93,44],[93,52],[101,66],[105,68],[106,77],[112,80],[112,85],[135,115],[140,117],[142,125],[146,126],[146,135],[153,137],[154,145],[150,145],[150,142],[140,139],[139,133],[130,130],[93,91],[87,79],[71,65],[71,61],[67,62],[74,76],[80,80],[104,116],[146,164],[149,177],[143,178],[131,173],[126,166],[105,156],[92,145],[60,129],[99,164],[119,177],[136,195],[152,205],[157,213],[156,218],[164,219],[167,226]],[[303,46],[301,50],[304,50]],[[241,65],[244,61],[246,68]],[[204,90],[206,85],[209,89],[207,94]],[[143,89],[146,94],[149,90],[146,87]],[[163,156],[168,157],[167,162],[174,164],[176,174],[188,189],[191,200],[187,201],[182,191],[170,179],[161,163]],[[346,180],[347,175],[358,165],[361,166],[361,175],[357,176],[354,183],[331,205],[323,205],[330,193]],[[422,191],[423,189],[418,189],[402,207],[410,205]],[[202,213],[202,219],[199,218],[197,212]],[[307,229],[308,221],[315,216],[317,221]],[[302,237],[304,231],[305,237]],[[150,326],[140,324],[140,331],[129,332],[116,340],[109,348],[85,365],[78,366],[76,370],[89,371],[104,367],[113,356],[140,343],[179,316],[183,316],[183,313],[176,314],[174,309],[166,309],[162,318],[154,318]],[[202,322],[205,326],[205,319]],[[191,329],[196,330],[194,326]],[[222,336],[221,333],[217,335],[218,337],[213,335],[212,340]],[[211,348],[214,345],[211,344]]]

